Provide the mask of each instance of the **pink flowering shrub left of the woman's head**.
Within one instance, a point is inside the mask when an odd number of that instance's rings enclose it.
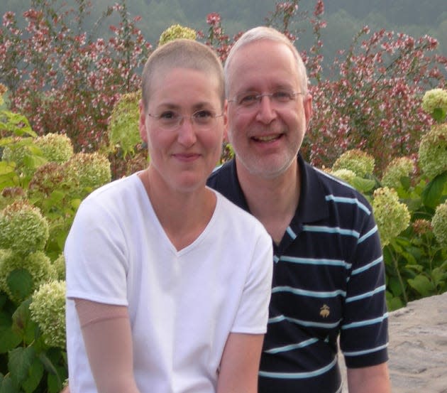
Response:
[[[57,13],[50,0],[35,0],[35,9],[23,14],[23,30],[13,13],[4,14],[0,75],[11,110],[24,114],[34,131],[67,134],[77,151],[94,151],[106,144],[118,97],[138,89],[150,44],[135,26],[139,18],[129,20],[125,1],[106,10],[121,16],[108,40],[77,31],[87,12],[84,1],[77,3],[78,11]]]

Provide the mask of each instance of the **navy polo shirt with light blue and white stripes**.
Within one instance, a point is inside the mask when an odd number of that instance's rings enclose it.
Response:
[[[297,212],[274,244],[259,393],[341,392],[338,339],[347,367],[388,359],[385,267],[370,204],[350,185],[298,161]],[[250,211],[234,160],[208,185]]]

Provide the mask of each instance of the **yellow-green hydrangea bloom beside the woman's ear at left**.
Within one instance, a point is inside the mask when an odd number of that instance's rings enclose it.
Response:
[[[124,157],[132,154],[135,146],[141,142],[138,126],[140,98],[140,92],[122,95],[111,112],[108,126],[109,141],[112,146],[121,147]]]

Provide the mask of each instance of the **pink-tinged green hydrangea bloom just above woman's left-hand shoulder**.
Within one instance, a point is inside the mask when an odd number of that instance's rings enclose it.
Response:
[[[77,153],[67,162],[69,176],[77,176],[80,190],[92,191],[111,181],[110,161],[99,153]]]

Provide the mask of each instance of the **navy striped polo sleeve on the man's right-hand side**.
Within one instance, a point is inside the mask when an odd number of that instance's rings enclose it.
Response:
[[[388,360],[385,265],[380,237],[372,211],[369,215],[358,212],[358,217],[360,235],[351,259],[340,335],[347,367],[367,367]]]

